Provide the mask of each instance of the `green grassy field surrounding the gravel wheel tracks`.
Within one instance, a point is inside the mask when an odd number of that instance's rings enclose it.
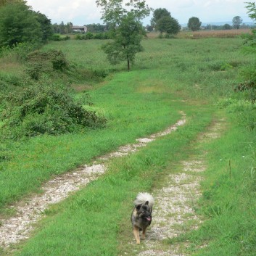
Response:
[[[170,174],[181,173],[181,162],[205,152],[202,195],[194,205],[204,221],[196,230],[181,223],[181,233],[159,246],[180,248],[181,255],[255,255],[256,136],[247,127],[255,106],[244,101],[244,93],[234,92],[240,70],[255,58],[241,54],[241,38],[202,34],[199,40],[144,39],[131,72],[125,63],[107,63],[100,49],[104,41],[44,46],[43,51],[63,51],[81,72],[104,74],[101,80],[70,80],[77,98],[90,95],[93,104],[87,107],[107,117],[107,127],[1,141],[1,152],[8,152],[7,159],[0,158],[2,223],[15,215],[15,202],[41,194],[41,186],[54,176],[78,171],[119,146],[163,131],[181,119],[181,111],[186,125],[134,154],[108,160],[103,176],[45,210],[30,238],[0,247],[1,255],[139,255],[145,247],[133,244],[134,197],[161,188]],[[24,78],[24,65],[0,59],[0,77]],[[221,137],[200,141],[217,120],[225,120]]]

